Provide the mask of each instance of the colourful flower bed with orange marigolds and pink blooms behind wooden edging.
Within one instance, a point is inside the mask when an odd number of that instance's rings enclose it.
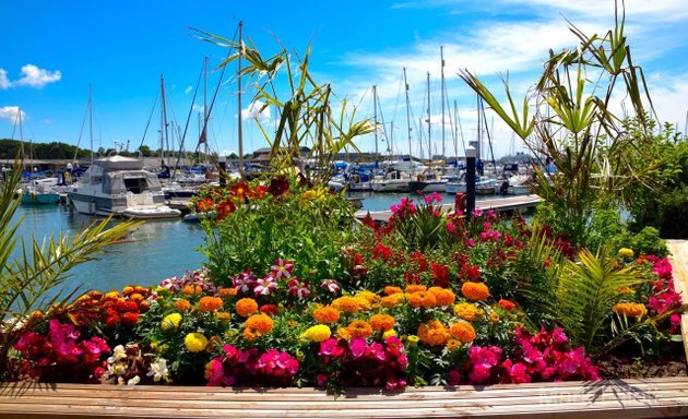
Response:
[[[391,391],[597,380],[609,355],[681,348],[666,259],[440,201],[349,229],[341,196],[296,180],[210,191],[205,268],[34,313],[11,378]]]

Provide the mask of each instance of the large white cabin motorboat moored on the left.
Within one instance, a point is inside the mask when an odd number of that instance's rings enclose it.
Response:
[[[157,176],[143,170],[143,160],[137,158],[115,155],[93,160],[67,194],[82,214],[140,219],[181,216],[179,210],[165,204]]]

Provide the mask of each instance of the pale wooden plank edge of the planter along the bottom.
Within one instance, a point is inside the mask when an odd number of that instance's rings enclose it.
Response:
[[[0,418],[661,418],[688,416],[688,378],[406,388],[0,384]]]

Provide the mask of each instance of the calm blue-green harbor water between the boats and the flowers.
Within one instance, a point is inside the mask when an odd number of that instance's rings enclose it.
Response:
[[[364,211],[384,211],[399,203],[404,196],[417,194],[402,193],[364,193],[352,195],[363,197]],[[452,203],[453,196],[442,194],[444,203]],[[73,236],[79,229],[98,220],[91,216],[70,211],[63,204],[21,205],[15,214],[23,217],[17,235],[27,246],[35,238],[38,242],[46,238],[57,238],[60,232]],[[114,223],[117,223],[115,220]],[[199,224],[185,223],[181,219],[145,222],[138,227],[121,244],[111,247],[98,260],[86,262],[70,271],[71,277],[64,288],[76,286],[81,290],[121,289],[130,284],[143,286],[156,285],[165,278],[181,276],[187,270],[197,270],[203,265],[205,255],[199,251],[204,243],[204,232]],[[21,244],[17,244],[17,247]],[[21,251],[19,248],[15,254]]]

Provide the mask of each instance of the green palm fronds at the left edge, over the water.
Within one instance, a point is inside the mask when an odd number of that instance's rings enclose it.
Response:
[[[121,242],[138,225],[127,222],[107,228],[108,218],[71,238],[60,234],[43,244],[21,241],[17,250],[15,234],[22,219],[13,220],[13,216],[20,203],[15,196],[20,180],[20,171],[14,170],[0,189],[0,366],[8,366],[9,350],[38,321],[32,312],[49,313],[73,297],[76,289],[58,289],[71,276],[69,271],[96,259],[107,246]]]

